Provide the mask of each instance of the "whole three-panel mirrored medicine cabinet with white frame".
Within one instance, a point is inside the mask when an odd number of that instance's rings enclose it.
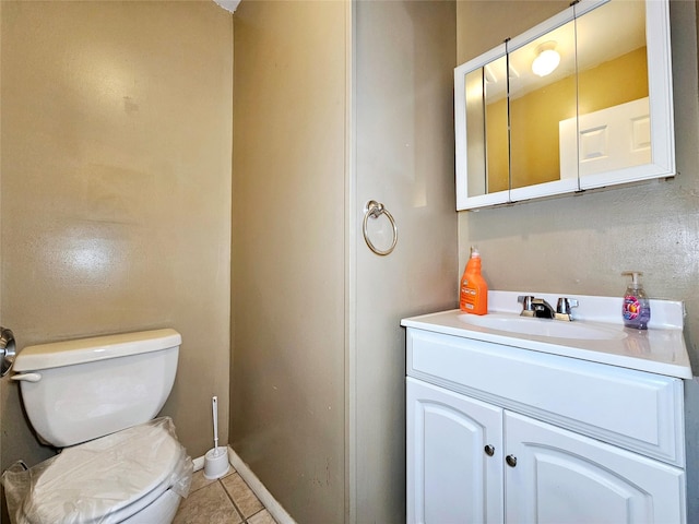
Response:
[[[667,0],[581,0],[454,70],[457,210],[675,174]]]

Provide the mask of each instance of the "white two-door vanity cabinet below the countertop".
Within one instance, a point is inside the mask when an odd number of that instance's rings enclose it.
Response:
[[[410,325],[407,376],[408,523],[686,522],[680,379]]]

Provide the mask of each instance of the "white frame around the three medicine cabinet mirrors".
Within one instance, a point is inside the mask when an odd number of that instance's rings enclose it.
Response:
[[[505,44],[454,69],[457,211],[497,204],[510,204],[523,200],[566,194],[640,180],[672,177],[676,174],[670,2],[668,0],[645,0],[651,163],[604,171],[582,178],[578,175],[577,177],[553,182],[538,183],[525,188],[510,188],[506,191],[469,196],[465,75],[609,1],[624,0],[581,0],[577,4],[537,24],[523,34],[506,40]]]

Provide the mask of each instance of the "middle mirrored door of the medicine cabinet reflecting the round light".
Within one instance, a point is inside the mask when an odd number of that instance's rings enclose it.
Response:
[[[568,14],[572,19],[572,11]],[[559,122],[577,116],[574,21],[534,39],[513,38],[508,59],[510,199],[576,191],[577,165],[561,166],[559,154]]]

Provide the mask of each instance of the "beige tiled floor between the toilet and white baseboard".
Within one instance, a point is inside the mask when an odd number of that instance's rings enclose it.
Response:
[[[173,524],[276,524],[248,485],[230,467],[217,480],[194,473],[189,497],[179,505]]]

